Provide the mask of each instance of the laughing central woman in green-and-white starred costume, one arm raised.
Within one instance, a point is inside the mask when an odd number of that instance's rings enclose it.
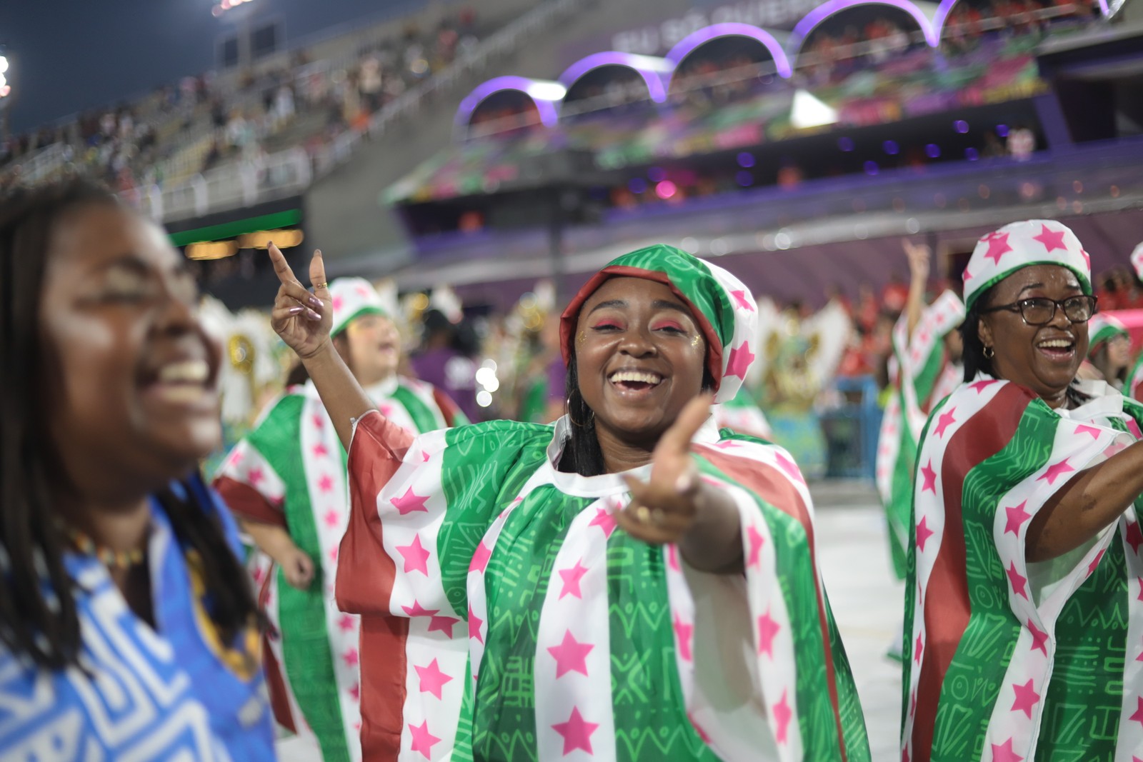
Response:
[[[563,313],[567,416],[414,439],[330,348],[321,258],[313,315],[271,255],[274,328],[350,449],[337,600],[389,655],[367,759],[869,760],[801,474],[710,420],[757,352],[737,279],[620,257]]]

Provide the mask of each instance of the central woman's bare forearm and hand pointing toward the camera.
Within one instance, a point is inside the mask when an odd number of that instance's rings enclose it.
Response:
[[[709,395],[687,403],[655,446],[648,481],[625,478],[631,503],[616,515],[616,522],[645,543],[678,544],[682,558],[700,571],[741,573],[738,510],[724,490],[698,479],[690,457],[690,440],[710,416],[710,404]],[[640,521],[640,506],[657,511],[660,521]]]

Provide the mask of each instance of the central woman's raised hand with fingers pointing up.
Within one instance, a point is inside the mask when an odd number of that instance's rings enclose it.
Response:
[[[305,360],[318,353],[329,342],[329,330],[334,324],[333,300],[326,283],[326,263],[321,251],[314,251],[310,260],[311,294],[294,275],[281,250],[270,244],[270,260],[281,286],[270,313],[270,324],[282,337],[297,356]]]

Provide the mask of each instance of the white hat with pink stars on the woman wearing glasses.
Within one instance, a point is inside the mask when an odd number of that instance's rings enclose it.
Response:
[[[1017,270],[1061,265],[1076,273],[1085,294],[1092,294],[1092,258],[1076,233],[1054,219],[1025,219],[1005,225],[976,243],[965,267],[965,308],[981,294]]]

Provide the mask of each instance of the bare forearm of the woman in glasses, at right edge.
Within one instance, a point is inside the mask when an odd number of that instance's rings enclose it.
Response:
[[[1044,504],[1028,526],[1026,561],[1047,561],[1084,545],[1143,494],[1143,442],[1085,468]]]

